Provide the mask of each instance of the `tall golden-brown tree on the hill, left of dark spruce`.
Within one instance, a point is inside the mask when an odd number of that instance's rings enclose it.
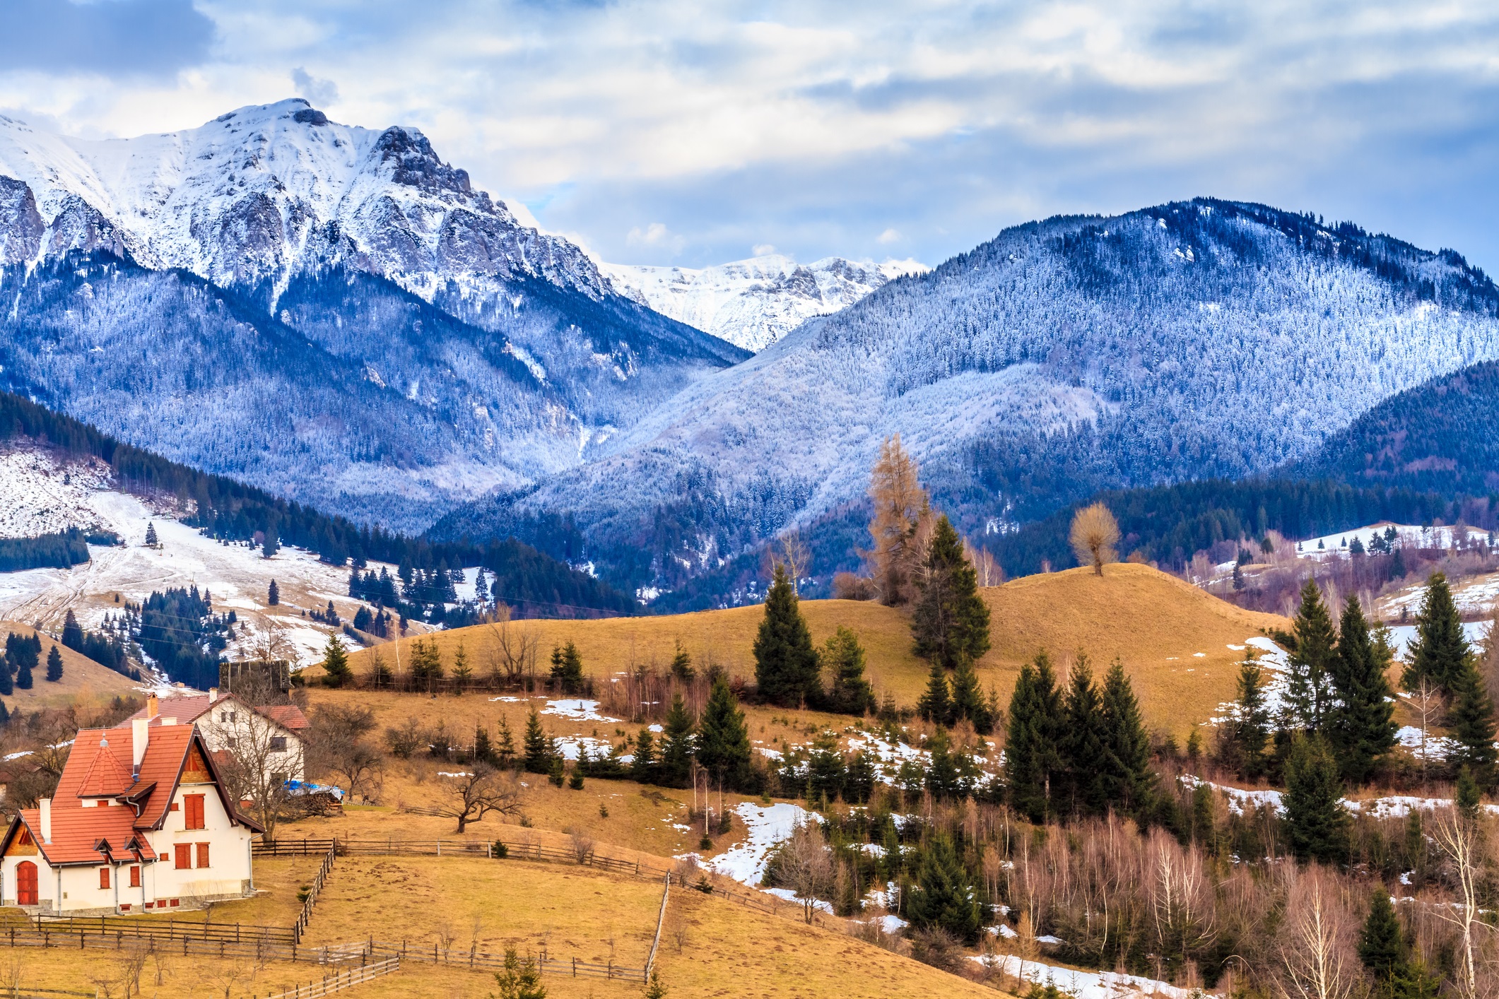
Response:
[[[874,589],[889,607],[911,598],[911,580],[922,562],[922,535],[931,521],[931,500],[917,478],[916,461],[901,446],[901,434],[886,437],[869,472],[874,518],[868,553]]]

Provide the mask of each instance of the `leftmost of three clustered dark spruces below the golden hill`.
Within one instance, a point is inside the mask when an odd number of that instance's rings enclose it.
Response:
[[[1004,783],[1010,806],[1031,822],[1042,822],[1052,812],[1052,782],[1066,776],[1057,752],[1063,723],[1057,674],[1046,653],[1040,653],[1033,664],[1021,666],[1004,725]]]

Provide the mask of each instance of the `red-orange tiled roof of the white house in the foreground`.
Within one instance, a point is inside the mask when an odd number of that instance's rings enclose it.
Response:
[[[0,851],[9,846],[19,824],[24,822],[48,863],[103,863],[105,843],[115,858],[124,857],[136,833],[156,828],[166,818],[187,762],[187,750],[195,740],[217,782],[213,756],[202,746],[196,726],[153,725],[141,770],[133,780],[126,765],[126,759],[130,758],[130,738],[129,725],[79,731],[67,756],[67,765],[63,767],[63,776],[57,782],[57,791],[52,794],[52,840],[42,842],[40,809],[24,809],[0,840]],[[238,822],[259,831],[259,825],[240,815],[234,803],[225,797],[222,782],[217,783],[217,789],[225,809]],[[109,794],[115,803],[97,807],[90,801],[88,807],[84,807],[84,797],[91,794]],[[118,803],[123,797],[136,798],[139,816],[135,807]]]

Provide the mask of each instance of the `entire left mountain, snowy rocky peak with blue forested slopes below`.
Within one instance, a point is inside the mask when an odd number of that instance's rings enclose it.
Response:
[[[405,530],[747,352],[613,294],[414,129],[303,100],[81,141],[0,118],[6,388]]]

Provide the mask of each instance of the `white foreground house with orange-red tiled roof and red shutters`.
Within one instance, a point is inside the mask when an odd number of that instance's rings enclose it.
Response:
[[[0,903],[109,915],[252,896],[261,831],[229,801],[195,725],[82,729],[54,795],[0,840]]]

